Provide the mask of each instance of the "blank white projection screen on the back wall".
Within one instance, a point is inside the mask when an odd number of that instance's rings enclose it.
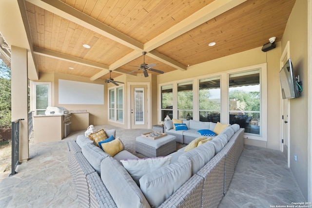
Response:
[[[104,104],[104,86],[59,79],[59,104]]]

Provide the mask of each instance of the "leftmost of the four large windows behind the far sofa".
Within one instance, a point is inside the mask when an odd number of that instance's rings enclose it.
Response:
[[[167,115],[173,118],[173,85],[161,86],[161,121],[165,119]]]

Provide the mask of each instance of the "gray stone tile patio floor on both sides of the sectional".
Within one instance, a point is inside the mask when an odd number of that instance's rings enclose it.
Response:
[[[68,169],[66,141],[83,132],[59,142],[30,144],[30,159],[17,167],[17,174],[0,173],[0,208],[80,208]],[[133,146],[125,144],[126,149]],[[246,145],[218,207],[270,208],[305,201],[281,151]]]

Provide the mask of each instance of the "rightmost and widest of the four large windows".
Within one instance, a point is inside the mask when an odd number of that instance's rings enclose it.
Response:
[[[229,75],[230,124],[239,124],[246,133],[260,134],[260,70]]]

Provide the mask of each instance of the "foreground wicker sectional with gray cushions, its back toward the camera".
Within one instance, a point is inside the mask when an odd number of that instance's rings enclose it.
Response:
[[[195,149],[170,154],[171,164],[142,176],[140,187],[119,162],[122,158],[137,158],[135,155],[126,150],[114,157],[105,155],[79,135],[76,141],[67,143],[79,203],[92,208],[216,208],[243,151],[243,132],[234,124]],[[90,159],[92,156],[97,159]]]

